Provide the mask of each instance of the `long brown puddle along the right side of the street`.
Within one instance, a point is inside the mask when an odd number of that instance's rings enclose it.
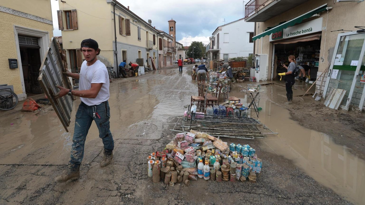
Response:
[[[277,89],[281,90],[274,86],[262,88],[268,96],[276,94]],[[237,97],[243,97],[243,93],[236,90],[233,93]],[[246,96],[241,101],[249,104]],[[262,108],[258,119],[272,131],[279,133],[277,136],[262,139],[267,151],[292,160],[310,177],[347,200],[365,204],[364,160],[351,154],[346,146],[336,144],[330,136],[302,127],[290,119],[287,109],[273,104],[263,96],[258,107]],[[254,111],[250,115],[256,117]]]

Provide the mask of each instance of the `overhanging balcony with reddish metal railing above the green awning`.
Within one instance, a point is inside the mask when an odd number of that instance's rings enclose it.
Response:
[[[246,22],[265,22],[308,0],[250,0],[245,5]]]

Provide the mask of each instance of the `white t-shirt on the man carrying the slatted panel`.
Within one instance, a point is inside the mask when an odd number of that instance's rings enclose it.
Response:
[[[104,63],[97,60],[93,65],[87,66],[87,61],[82,62],[80,69],[80,87],[79,90],[88,90],[92,83],[103,83],[96,98],[80,97],[85,104],[99,105],[101,102],[109,99],[109,74]]]

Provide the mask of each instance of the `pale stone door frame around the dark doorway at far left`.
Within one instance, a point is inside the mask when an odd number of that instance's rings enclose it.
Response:
[[[23,77],[23,67],[22,67],[22,58],[20,57],[20,48],[19,48],[19,39],[18,35],[26,35],[26,36],[34,36],[38,37],[38,43],[40,55],[41,55],[41,61],[46,56],[47,48],[50,43],[49,39],[49,32],[48,31],[41,31],[37,29],[22,27],[22,26],[16,26],[14,25],[14,35],[15,35],[15,46],[16,46],[16,54],[18,55],[18,66],[19,66],[19,74],[20,74],[20,82],[22,83],[22,94],[17,94],[19,101],[25,100],[27,98],[27,94],[25,92],[25,85],[24,85],[24,77]]]

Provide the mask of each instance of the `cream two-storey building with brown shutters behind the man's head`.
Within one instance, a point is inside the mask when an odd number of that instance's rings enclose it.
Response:
[[[87,13],[82,8],[87,8]],[[62,30],[63,48],[67,67],[78,72],[82,63],[80,43],[83,39],[96,40],[101,49],[98,59],[107,67],[123,60],[150,66],[152,60],[158,67],[158,33],[128,7],[114,0],[59,1],[58,22]],[[80,10],[81,11],[80,11]]]

